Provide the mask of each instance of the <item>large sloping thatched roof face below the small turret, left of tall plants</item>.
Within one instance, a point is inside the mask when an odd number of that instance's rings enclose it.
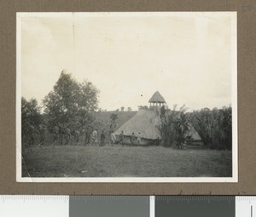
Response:
[[[120,134],[124,131],[125,135],[134,133],[136,136],[141,133],[142,138],[157,140],[160,138],[160,132],[157,125],[160,124],[160,117],[156,112],[150,110],[140,110],[134,117],[131,117],[123,126],[114,132]]]

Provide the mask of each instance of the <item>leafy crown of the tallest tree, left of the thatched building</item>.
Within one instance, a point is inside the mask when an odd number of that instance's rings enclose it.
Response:
[[[98,107],[98,94],[92,83],[77,83],[72,74],[61,71],[53,90],[43,100],[44,112],[49,115],[49,127],[58,123],[91,123],[92,112]]]

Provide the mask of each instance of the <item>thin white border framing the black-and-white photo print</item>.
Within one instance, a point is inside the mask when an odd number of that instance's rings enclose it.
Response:
[[[237,129],[237,13],[221,12],[76,12],[78,16],[176,16],[195,14],[231,17],[231,77],[232,77],[232,177],[104,177],[104,178],[37,178],[22,177],[21,156],[21,18],[22,17],[63,17],[72,12],[18,12],[16,13],[16,181],[17,182],[88,182],[88,183],[232,183],[238,182],[238,129]]]

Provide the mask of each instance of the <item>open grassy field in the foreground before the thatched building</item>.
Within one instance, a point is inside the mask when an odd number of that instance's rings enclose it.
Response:
[[[161,146],[32,146],[22,149],[27,177],[231,177],[231,151]]]

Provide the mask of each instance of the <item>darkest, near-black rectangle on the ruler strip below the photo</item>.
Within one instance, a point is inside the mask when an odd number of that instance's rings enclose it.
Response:
[[[157,196],[155,217],[235,217],[232,196]]]

